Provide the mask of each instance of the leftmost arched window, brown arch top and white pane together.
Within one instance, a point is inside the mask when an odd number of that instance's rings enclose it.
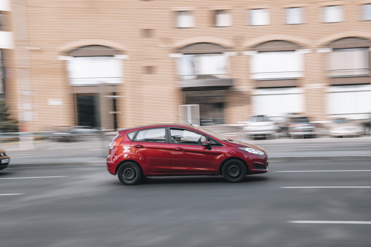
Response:
[[[71,84],[101,84],[121,82],[119,51],[106,46],[84,46],[68,53]]]

